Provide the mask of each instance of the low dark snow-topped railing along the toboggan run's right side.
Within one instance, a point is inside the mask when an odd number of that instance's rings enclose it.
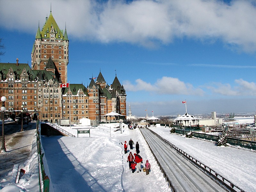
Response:
[[[147,128],[148,129],[148,128]],[[219,173],[215,172],[214,170],[212,170],[210,167],[208,167],[207,165],[204,165],[203,163],[201,163],[200,161],[198,161],[197,159],[195,159],[194,157],[188,155],[186,152],[184,152],[183,150],[179,149],[178,147],[176,147],[175,145],[173,145],[170,141],[164,139],[163,137],[161,137],[160,135],[158,135],[156,132],[148,129],[150,132],[152,132],[153,134],[155,134],[158,138],[160,138],[161,140],[163,140],[165,143],[167,143],[170,147],[172,147],[173,149],[176,150],[177,153],[179,153],[181,156],[185,157],[190,163],[192,163],[196,168],[198,168],[199,170],[201,170],[202,172],[204,172],[204,174],[206,174],[208,177],[210,177],[212,180],[214,180],[215,182],[219,183],[220,185],[222,185],[223,187],[225,187],[225,189],[229,190],[229,191],[241,191],[241,192],[245,192],[243,189],[241,189],[240,187],[238,187],[237,185],[235,185],[234,183],[232,183],[231,181],[227,180],[226,178],[224,178],[223,176],[221,176]],[[235,190],[234,188],[236,188],[237,190]]]

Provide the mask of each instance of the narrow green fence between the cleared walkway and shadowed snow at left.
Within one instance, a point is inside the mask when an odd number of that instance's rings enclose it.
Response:
[[[40,132],[41,132],[41,127],[39,123],[39,118],[36,122],[36,141],[37,141],[37,152],[38,152],[38,164],[40,165],[38,167],[39,169],[39,186],[40,186],[40,192],[42,191],[42,186],[41,186],[41,176],[42,176],[42,181],[43,181],[43,188],[44,192],[49,192],[49,187],[50,187],[50,180],[47,175],[45,175],[44,172],[44,162],[43,162],[43,156],[44,153],[41,151],[41,140],[40,140]],[[40,175],[40,168],[41,168],[41,175]]]

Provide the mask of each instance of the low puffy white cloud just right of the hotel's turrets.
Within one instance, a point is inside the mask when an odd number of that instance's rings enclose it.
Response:
[[[184,83],[177,78],[162,77],[157,79],[155,84],[147,83],[141,79],[135,80],[136,84],[129,81],[124,82],[126,91],[146,91],[155,94],[170,95],[203,95],[204,91],[200,88],[194,88],[192,84]]]

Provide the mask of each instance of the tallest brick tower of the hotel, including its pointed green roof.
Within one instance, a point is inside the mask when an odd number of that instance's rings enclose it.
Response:
[[[31,67],[33,70],[45,70],[49,58],[55,68],[55,76],[59,82],[67,83],[68,66],[68,34],[60,30],[50,12],[42,30],[38,25],[36,39],[31,53]]]

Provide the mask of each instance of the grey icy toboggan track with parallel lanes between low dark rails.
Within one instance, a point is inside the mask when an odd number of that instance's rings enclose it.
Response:
[[[147,129],[140,129],[175,191],[225,191]]]

